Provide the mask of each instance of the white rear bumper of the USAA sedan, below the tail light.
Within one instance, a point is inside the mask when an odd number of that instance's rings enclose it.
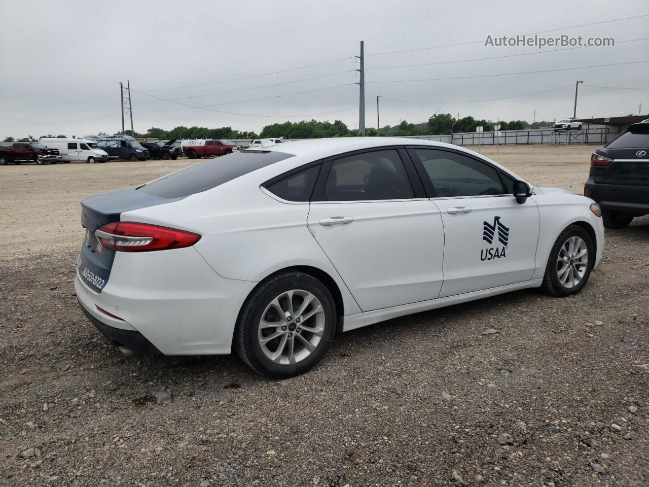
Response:
[[[113,343],[129,340],[145,349],[141,343],[151,343],[155,351],[143,353],[225,355],[232,349],[239,309],[255,284],[221,277],[194,247],[186,247],[117,252],[101,293],[79,271],[75,291],[86,316]]]

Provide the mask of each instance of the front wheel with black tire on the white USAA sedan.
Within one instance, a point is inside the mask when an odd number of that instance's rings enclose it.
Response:
[[[594,259],[591,236],[582,227],[570,225],[552,246],[541,289],[557,297],[580,292],[591,275]]]

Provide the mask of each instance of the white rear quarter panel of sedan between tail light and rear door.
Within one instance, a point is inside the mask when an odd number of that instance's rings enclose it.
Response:
[[[336,282],[345,314],[360,312],[345,282],[308,231],[308,203],[282,203],[245,177],[186,199],[123,213],[123,221],[164,225],[202,235],[195,248],[227,279],[259,282],[293,266],[312,266]],[[232,183],[232,184],[231,184]]]

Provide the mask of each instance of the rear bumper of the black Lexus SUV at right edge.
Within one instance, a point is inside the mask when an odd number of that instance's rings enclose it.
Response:
[[[649,186],[630,184],[598,184],[589,178],[584,195],[596,201],[603,210],[649,214]]]

